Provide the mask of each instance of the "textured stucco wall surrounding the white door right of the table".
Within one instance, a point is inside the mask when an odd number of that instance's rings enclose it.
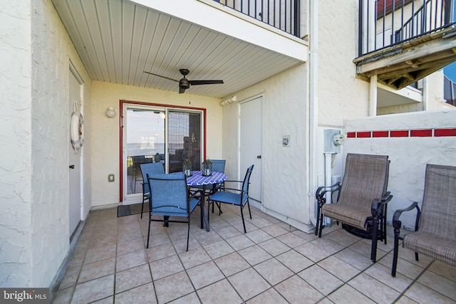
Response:
[[[307,65],[299,65],[235,94],[238,103],[257,95],[263,99],[261,171],[265,211],[303,230],[310,223],[305,173],[306,72]],[[234,178],[239,177],[238,103],[223,107],[223,157],[227,159],[228,176]],[[290,136],[290,147],[282,147],[283,135]]]

